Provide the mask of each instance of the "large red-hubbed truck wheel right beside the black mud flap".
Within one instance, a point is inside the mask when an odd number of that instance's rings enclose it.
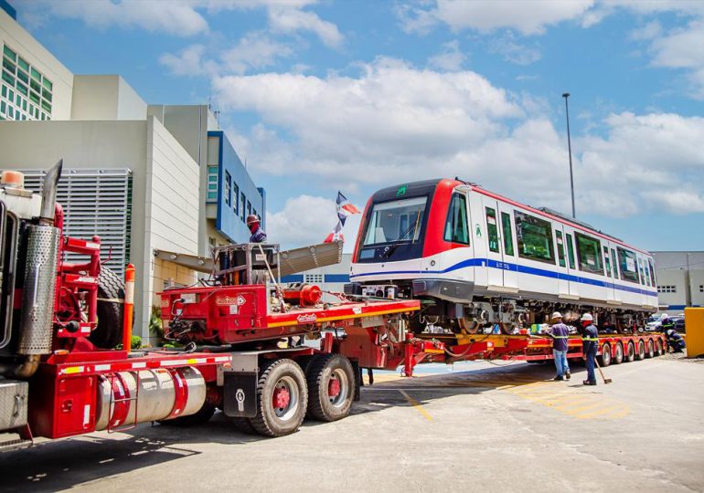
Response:
[[[259,377],[257,415],[250,422],[264,436],[291,435],[303,423],[307,405],[301,367],[293,360],[274,360]]]

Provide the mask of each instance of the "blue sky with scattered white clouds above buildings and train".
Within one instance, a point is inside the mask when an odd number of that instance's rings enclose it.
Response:
[[[210,103],[318,243],[342,191],[460,178],[649,250],[704,249],[704,1],[10,0],[77,74]],[[347,221],[347,247],[358,215]]]

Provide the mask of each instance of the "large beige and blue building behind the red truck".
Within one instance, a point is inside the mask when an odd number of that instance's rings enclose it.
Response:
[[[257,188],[208,105],[148,105],[118,75],[75,75],[0,0],[0,168],[39,190],[59,159],[69,236],[101,236],[101,257],[136,269],[134,333],[149,338],[155,293],[197,275],[177,254],[246,242]]]

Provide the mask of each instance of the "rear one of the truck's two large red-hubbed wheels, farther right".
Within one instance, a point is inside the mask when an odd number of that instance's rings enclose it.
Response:
[[[340,354],[320,354],[308,367],[308,413],[319,421],[342,419],[355,397],[352,363]]]

